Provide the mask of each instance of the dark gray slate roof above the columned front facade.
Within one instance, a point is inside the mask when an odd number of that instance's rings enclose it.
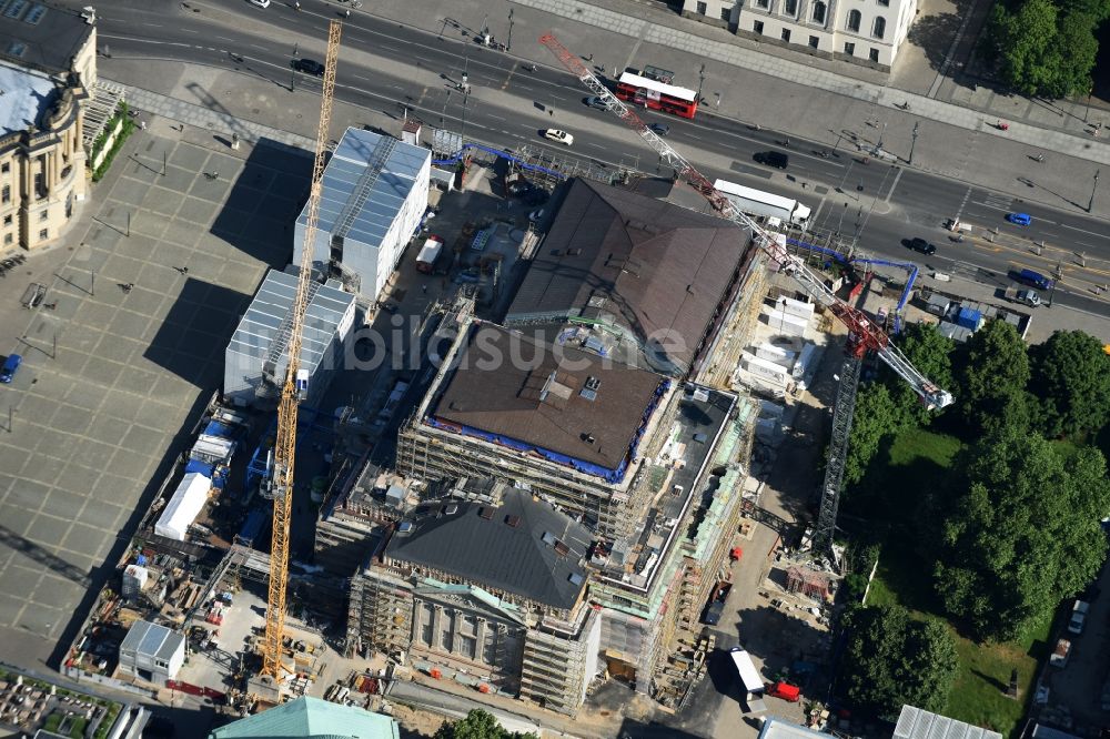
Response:
[[[406,523],[412,528],[403,533]],[[496,508],[461,500],[421,506],[398,526],[385,557],[571,608],[586,587],[588,546],[585,526],[514,488]]]

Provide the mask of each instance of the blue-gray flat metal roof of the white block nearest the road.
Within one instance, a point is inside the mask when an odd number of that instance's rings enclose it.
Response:
[[[373,131],[347,129],[323,175],[321,233],[379,244],[432,152]],[[427,183],[420,183],[421,188]],[[307,220],[307,205],[297,223]]]

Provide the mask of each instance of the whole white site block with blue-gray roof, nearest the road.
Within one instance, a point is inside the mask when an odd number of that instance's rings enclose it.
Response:
[[[312,267],[376,300],[427,211],[432,152],[373,131],[347,129],[324,170]],[[296,219],[301,264],[307,204]]]

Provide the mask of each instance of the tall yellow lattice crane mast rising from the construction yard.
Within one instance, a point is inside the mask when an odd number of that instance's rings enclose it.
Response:
[[[289,581],[289,524],[290,508],[293,503],[293,459],[296,454],[301,340],[304,333],[304,314],[309,307],[312,252],[316,243],[316,224],[320,220],[320,194],[327,153],[327,130],[332,122],[335,65],[339,61],[342,28],[343,26],[339,21],[331,21],[327,26],[327,55],[324,61],[320,123],[316,126],[316,153],[312,164],[312,184],[309,190],[301,267],[297,271],[296,293],[293,297],[289,365],[285,368],[285,383],[282,385],[281,399],[278,404],[278,439],[274,444],[273,470],[273,543],[270,547],[270,597],[266,604],[266,632],[262,646],[262,675],[273,678],[275,682],[281,682],[283,678],[281,657],[282,637],[285,628],[285,586]]]

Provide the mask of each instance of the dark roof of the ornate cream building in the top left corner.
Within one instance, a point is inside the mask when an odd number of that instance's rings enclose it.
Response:
[[[64,74],[92,29],[75,10],[36,0],[0,0],[0,60]]]

